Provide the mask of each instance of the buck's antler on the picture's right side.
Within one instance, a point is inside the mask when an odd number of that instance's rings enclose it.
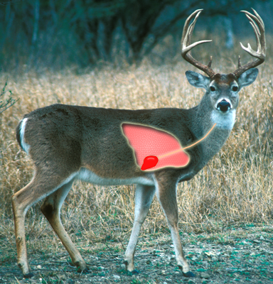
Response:
[[[252,13],[247,11],[242,11],[242,12],[245,13],[245,16],[247,16],[254,30],[256,43],[257,43],[257,51],[251,48],[250,43],[247,43],[247,48],[244,45],[242,45],[242,43],[240,43],[240,45],[243,50],[245,50],[247,53],[249,53],[251,56],[257,59],[243,66],[238,65],[237,70],[233,72],[233,74],[237,78],[240,77],[240,75],[242,75],[243,72],[249,70],[250,68],[254,68],[262,64],[262,62],[264,62],[265,59],[266,40],[265,40],[264,22],[262,21],[262,18],[259,16],[257,11],[255,11],[255,9],[252,10],[255,13],[255,15],[252,15]]]

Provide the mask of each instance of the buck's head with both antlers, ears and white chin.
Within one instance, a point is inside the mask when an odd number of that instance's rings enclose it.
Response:
[[[197,67],[198,69],[205,72],[207,76],[203,76],[197,72],[187,71],[186,76],[188,78],[188,82],[195,87],[204,88],[206,93],[204,100],[206,102],[206,107],[209,107],[213,112],[212,115],[216,120],[222,119],[227,116],[232,116],[234,114],[235,118],[235,109],[237,108],[239,97],[238,93],[242,87],[248,86],[255,81],[258,70],[255,68],[257,65],[262,64],[265,58],[266,51],[266,43],[265,43],[265,35],[264,35],[264,23],[259,14],[252,9],[255,13],[255,16],[252,13],[247,11],[243,11],[247,18],[250,20],[252,27],[254,28],[256,39],[257,39],[257,51],[252,50],[250,44],[248,44],[247,48],[244,45],[241,46],[247,53],[250,53],[255,60],[246,65],[240,64],[240,57],[238,60],[238,67],[235,72],[230,74],[215,74],[213,69],[211,68],[212,57],[210,57],[210,62],[208,65],[203,65],[194,59],[191,55],[191,49],[196,45],[201,43],[208,43],[211,40],[200,40],[196,43],[191,44],[191,35],[193,33],[193,28],[196,24],[197,18],[202,11],[196,10],[189,16],[185,22],[183,28],[183,34],[181,39],[182,45],[182,57],[190,62],[192,65]],[[195,18],[194,18],[195,17]],[[193,23],[190,22],[194,18]],[[204,101],[203,101],[204,102]]]

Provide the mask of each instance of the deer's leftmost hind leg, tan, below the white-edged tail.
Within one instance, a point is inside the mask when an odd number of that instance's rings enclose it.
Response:
[[[17,249],[17,263],[25,278],[31,278],[33,273],[28,266],[26,252],[25,219],[26,212],[31,205],[52,194],[62,185],[73,178],[48,178],[48,175],[36,170],[33,180],[11,197],[12,208],[14,211],[14,227]]]

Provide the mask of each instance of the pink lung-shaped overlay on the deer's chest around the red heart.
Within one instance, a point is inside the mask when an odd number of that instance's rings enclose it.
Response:
[[[140,124],[122,124],[122,131],[128,139],[129,145],[134,149],[137,165],[140,168],[144,162],[144,158],[149,155],[158,157],[159,162],[155,167],[147,170],[159,170],[165,167],[181,168],[188,165],[190,161],[188,154],[183,151],[160,158],[161,155],[182,148],[178,139],[166,131]]]

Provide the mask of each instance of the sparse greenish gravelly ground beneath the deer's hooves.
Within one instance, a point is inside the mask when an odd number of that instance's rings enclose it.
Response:
[[[81,248],[90,273],[77,273],[61,244],[56,254],[43,248],[41,241],[41,251],[29,252],[34,277],[24,279],[16,266],[15,244],[2,243],[0,283],[273,283],[272,226],[248,225],[218,234],[184,233],[181,239],[196,278],[183,277],[177,268],[171,237],[156,234],[139,238],[137,275],[124,271],[125,245],[121,241],[105,240],[86,247],[82,239],[77,247]]]

